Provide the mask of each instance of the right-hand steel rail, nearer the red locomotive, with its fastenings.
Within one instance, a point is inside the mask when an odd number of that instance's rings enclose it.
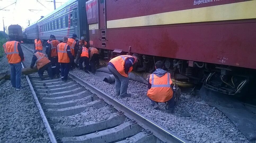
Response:
[[[85,85],[86,89],[91,90],[91,92],[97,94],[98,97],[103,98],[105,102],[107,102],[108,104],[112,104],[115,109],[123,111],[124,115],[127,116],[128,118],[136,120],[138,125],[152,131],[153,135],[155,135],[160,140],[164,142],[171,142],[171,143],[188,142],[185,139],[174,134],[170,130],[165,129],[163,126],[159,125],[158,123],[148,119],[144,115],[137,113],[134,109],[126,106],[125,104],[122,104],[118,99],[104,93],[103,91],[91,85],[90,83],[83,81],[81,78],[77,77],[76,75],[69,73],[69,77],[73,78],[80,84]]]

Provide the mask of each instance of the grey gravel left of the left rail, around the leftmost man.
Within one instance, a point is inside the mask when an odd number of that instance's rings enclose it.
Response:
[[[1,58],[0,64],[0,73],[10,70],[7,58]],[[27,88],[16,90],[12,89],[11,80],[0,82],[0,143],[50,142],[24,75],[21,85]]]

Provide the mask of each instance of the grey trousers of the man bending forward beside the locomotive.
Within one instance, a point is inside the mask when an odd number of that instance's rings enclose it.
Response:
[[[129,78],[122,76],[113,66],[108,65],[108,70],[116,78],[116,96],[126,96]]]

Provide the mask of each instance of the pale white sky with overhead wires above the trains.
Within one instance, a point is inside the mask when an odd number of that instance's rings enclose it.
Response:
[[[37,22],[41,16],[46,16],[48,13],[54,11],[54,3],[47,1],[53,0],[0,0],[0,9],[2,9],[0,10],[0,31],[3,31],[3,20],[7,29],[8,26],[12,24],[18,24],[25,29],[28,26],[28,20],[30,21],[30,24]],[[56,8],[58,8],[68,0],[55,1]]]

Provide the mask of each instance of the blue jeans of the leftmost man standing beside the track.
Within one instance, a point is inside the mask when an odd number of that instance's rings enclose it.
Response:
[[[21,77],[21,69],[22,65],[21,62],[17,64],[10,64],[11,68],[11,84],[12,87],[20,88],[20,77]]]

